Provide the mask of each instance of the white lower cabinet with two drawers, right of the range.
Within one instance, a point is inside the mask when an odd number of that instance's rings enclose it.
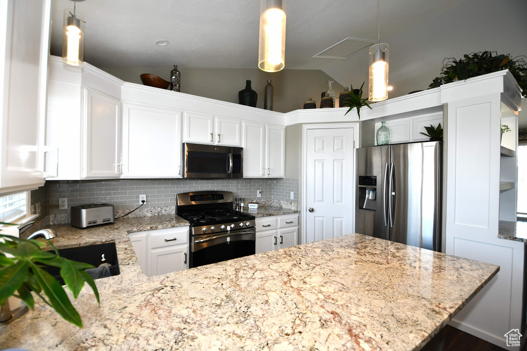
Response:
[[[256,218],[256,253],[298,245],[298,214]]]

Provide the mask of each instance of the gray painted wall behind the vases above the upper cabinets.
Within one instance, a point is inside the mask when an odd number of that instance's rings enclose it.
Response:
[[[177,62],[174,62],[177,64]],[[125,82],[142,84],[141,74],[151,73],[170,81],[169,67],[99,67],[103,71]],[[238,92],[245,89],[245,81],[251,81],[251,88],[258,94],[257,108],[264,108],[264,89],[267,79],[274,88],[273,111],[290,112],[304,107],[312,98],[320,105],[320,93],[327,91],[327,81],[335,81],[318,69],[283,69],[268,73],[261,69],[207,69],[178,66],[181,71],[181,92],[238,104]],[[355,82],[350,82],[355,83]],[[338,97],[344,87],[337,82],[333,90]],[[338,99],[335,102],[338,105]]]

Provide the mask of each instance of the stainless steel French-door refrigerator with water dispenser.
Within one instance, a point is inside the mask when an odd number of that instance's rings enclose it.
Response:
[[[441,251],[442,142],[357,149],[355,232]]]

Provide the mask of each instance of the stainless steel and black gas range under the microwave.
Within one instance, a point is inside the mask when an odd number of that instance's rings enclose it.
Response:
[[[176,214],[190,222],[189,268],[255,254],[255,217],[232,209],[232,192],[181,193]]]

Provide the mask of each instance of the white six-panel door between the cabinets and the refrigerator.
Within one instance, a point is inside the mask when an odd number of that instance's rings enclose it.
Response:
[[[307,242],[353,232],[354,128],[308,129]]]

